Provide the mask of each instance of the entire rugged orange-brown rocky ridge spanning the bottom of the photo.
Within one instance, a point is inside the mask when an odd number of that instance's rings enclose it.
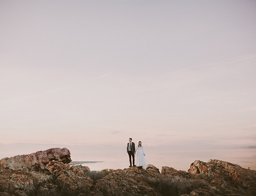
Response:
[[[95,172],[82,165],[70,167],[67,149],[49,149],[33,154],[37,155],[30,157],[48,155],[47,158],[33,159],[37,160],[35,164],[30,164],[32,159],[29,163],[22,159],[18,161],[28,155],[0,160],[0,196],[256,195],[256,171],[220,160],[207,163],[196,160],[187,172],[171,167],[162,167],[160,172],[154,165],[147,165],[147,170],[130,167]]]

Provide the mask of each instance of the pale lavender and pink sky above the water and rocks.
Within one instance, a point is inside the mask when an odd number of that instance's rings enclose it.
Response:
[[[256,146],[256,1],[0,0],[0,32],[0,158]]]

